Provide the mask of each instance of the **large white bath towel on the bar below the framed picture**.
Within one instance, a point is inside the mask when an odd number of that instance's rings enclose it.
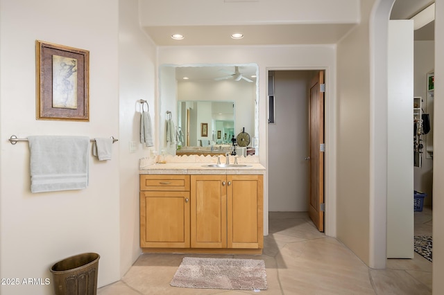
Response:
[[[88,186],[88,137],[28,136],[28,141],[32,193]]]

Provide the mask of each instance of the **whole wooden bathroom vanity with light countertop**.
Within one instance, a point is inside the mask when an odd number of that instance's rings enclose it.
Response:
[[[262,253],[265,168],[210,166],[164,163],[139,170],[144,252]]]

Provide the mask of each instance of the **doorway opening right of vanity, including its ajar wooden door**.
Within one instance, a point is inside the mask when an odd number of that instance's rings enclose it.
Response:
[[[321,69],[268,71],[268,211],[305,212],[319,231],[325,227],[323,77]]]

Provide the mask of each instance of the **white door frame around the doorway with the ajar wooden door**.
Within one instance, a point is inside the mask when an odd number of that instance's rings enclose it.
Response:
[[[324,233],[330,237],[336,238],[336,80],[327,66],[267,66],[264,76],[266,78],[266,91],[268,93],[268,71],[324,71],[325,76],[325,93],[324,93],[324,136],[325,136],[325,153],[324,153],[324,201],[325,201],[325,216],[324,216]],[[264,98],[266,99],[266,97]],[[267,122],[268,106],[263,120]],[[266,170],[268,171],[268,152],[271,144],[268,142],[268,123],[266,123]],[[268,173],[266,173],[266,189],[268,186]],[[269,194],[267,191],[267,196]],[[264,202],[269,202],[269,199]],[[266,209],[265,209],[266,208]],[[268,235],[268,204],[264,204],[264,229]]]

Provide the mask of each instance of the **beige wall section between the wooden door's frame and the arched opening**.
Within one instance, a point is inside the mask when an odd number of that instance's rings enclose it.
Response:
[[[337,44],[337,236],[370,260],[370,31],[375,1],[361,1],[361,23]],[[385,51],[386,54],[386,51]],[[359,175],[359,176],[358,176]],[[385,215],[381,218],[385,218]]]

